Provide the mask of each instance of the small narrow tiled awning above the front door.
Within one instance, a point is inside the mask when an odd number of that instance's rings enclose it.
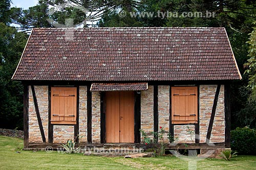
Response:
[[[91,91],[137,91],[147,90],[147,83],[93,83]]]

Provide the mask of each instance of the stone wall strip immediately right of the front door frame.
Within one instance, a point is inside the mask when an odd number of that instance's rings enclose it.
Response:
[[[154,132],[154,86],[141,91],[141,129],[152,137],[150,132]]]

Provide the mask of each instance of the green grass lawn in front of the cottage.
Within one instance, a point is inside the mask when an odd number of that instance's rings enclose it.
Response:
[[[123,157],[83,156],[56,151],[21,151],[23,140],[0,136],[0,169],[188,169],[188,161],[174,156],[124,159]],[[19,151],[20,153],[16,153]],[[256,156],[238,156],[231,161],[204,159],[197,169],[256,169]]]

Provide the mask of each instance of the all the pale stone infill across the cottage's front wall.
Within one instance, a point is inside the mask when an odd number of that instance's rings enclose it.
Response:
[[[42,128],[48,142],[48,86],[34,86],[35,95],[38,104]],[[87,87],[79,87],[79,136],[80,142],[87,142]],[[209,122],[216,98],[217,85],[200,85],[199,86],[199,137],[200,143],[206,142]],[[158,86],[157,93],[157,114],[158,130],[163,127],[169,130],[170,115],[170,86]],[[210,142],[225,142],[225,114],[224,114],[224,85],[220,86],[218,95],[216,113],[210,133]],[[92,92],[92,142],[100,142],[100,92]],[[141,126],[145,132],[154,131],[154,86],[149,86],[148,90],[141,91]],[[190,143],[195,141],[195,125],[183,124],[174,125],[174,136],[178,137],[179,143]],[[53,142],[66,142],[67,139],[74,138],[74,126],[71,125],[54,125]],[[152,137],[152,136],[151,136]],[[164,136],[167,138],[167,136]],[[41,143],[42,136],[40,133],[38,119],[35,111],[35,105],[32,95],[31,86],[29,87],[29,142]]]

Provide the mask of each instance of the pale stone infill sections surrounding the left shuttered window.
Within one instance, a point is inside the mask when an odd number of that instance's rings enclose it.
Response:
[[[42,128],[48,142],[48,86],[34,86],[37,99],[39,115],[42,122]],[[79,140],[87,142],[87,87],[79,87]],[[53,142],[63,143],[68,139],[74,139],[74,126],[54,125]],[[42,137],[36,116],[35,105],[32,95],[31,86],[29,86],[29,142],[41,143]]]

